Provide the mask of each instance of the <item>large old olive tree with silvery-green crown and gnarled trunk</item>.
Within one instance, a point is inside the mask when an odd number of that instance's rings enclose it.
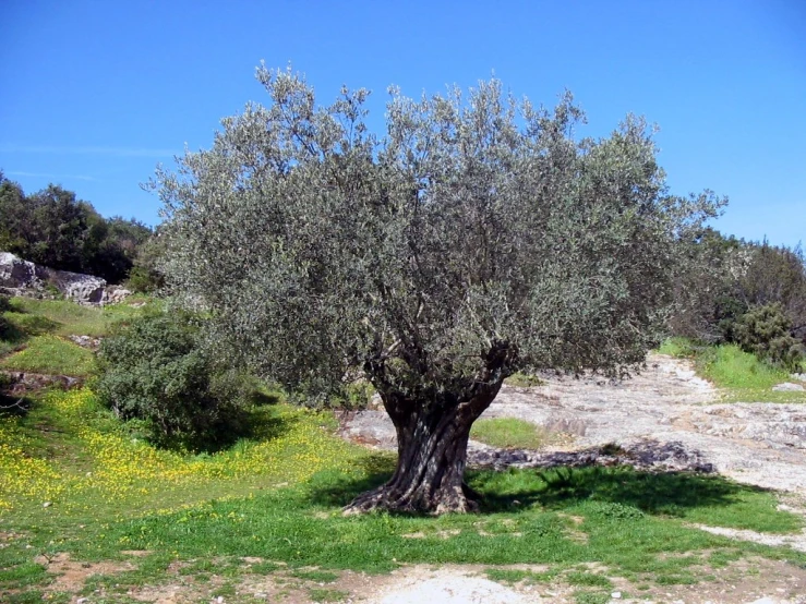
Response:
[[[618,376],[658,342],[677,244],[713,216],[669,194],[641,119],[577,140],[498,81],[420,100],[364,89],[328,106],[304,77],[257,69],[266,106],[157,170],[165,273],[213,338],[311,398],[363,378],[395,424],[397,469],[349,510],[476,509],[472,423],[516,371]]]

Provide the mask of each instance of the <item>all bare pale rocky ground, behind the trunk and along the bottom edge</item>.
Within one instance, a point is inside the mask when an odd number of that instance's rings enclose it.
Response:
[[[562,445],[529,451],[501,450],[471,442],[471,466],[629,463],[641,469],[719,472],[737,482],[782,491],[786,509],[806,514],[806,406],[720,403],[717,389],[697,377],[690,363],[661,354],[650,355],[646,371],[624,382],[555,375],[541,379],[544,384],[533,388],[504,386],[483,418],[532,422],[565,435],[557,439]],[[395,449],[394,427],[380,409],[346,415],[341,434],[366,446]],[[806,534],[770,536],[720,527],[698,528],[806,551]],[[492,584],[468,568],[413,575],[417,577],[392,581],[382,594],[375,593],[377,600],[371,600],[388,604],[541,601],[537,594]],[[773,584],[772,576],[742,579],[747,584],[718,583],[714,593],[697,587],[691,593],[678,590],[675,594],[653,595],[679,602],[806,603],[806,582],[801,583],[804,578],[787,576],[779,585]],[[543,594],[542,601],[566,600],[563,594],[546,600]]]

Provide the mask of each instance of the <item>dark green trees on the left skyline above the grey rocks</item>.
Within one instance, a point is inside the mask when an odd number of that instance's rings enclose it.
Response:
[[[0,251],[111,283],[135,277],[136,289],[152,289],[151,269],[142,265],[153,235],[134,218],[104,218],[93,204],[59,185],[26,195],[0,171]]]

